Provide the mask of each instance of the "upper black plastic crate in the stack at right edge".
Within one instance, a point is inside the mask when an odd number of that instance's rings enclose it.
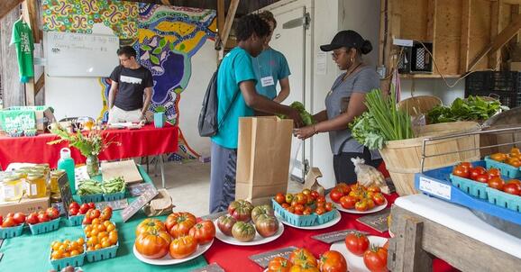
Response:
[[[465,78],[465,94],[477,92],[521,92],[521,73],[519,72],[474,72]]]

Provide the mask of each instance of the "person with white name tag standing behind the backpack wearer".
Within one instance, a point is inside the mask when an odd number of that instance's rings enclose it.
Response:
[[[264,50],[257,58],[251,58],[255,76],[257,77],[257,92],[271,100],[282,103],[289,95],[288,60],[278,50],[270,47],[271,35],[277,27],[277,21],[269,11],[259,14],[270,25],[270,35],[264,43]],[[277,82],[280,85],[280,93],[277,95]]]

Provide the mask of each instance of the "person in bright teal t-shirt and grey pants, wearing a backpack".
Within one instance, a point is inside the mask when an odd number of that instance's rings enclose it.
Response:
[[[257,94],[257,79],[251,56],[261,53],[270,26],[257,14],[242,16],[235,35],[238,46],[224,57],[217,73],[217,120],[219,128],[212,137],[210,173],[210,213],[224,211],[235,200],[235,170],[239,118],[253,116],[255,111],[286,114],[296,122],[302,119],[297,110]]]

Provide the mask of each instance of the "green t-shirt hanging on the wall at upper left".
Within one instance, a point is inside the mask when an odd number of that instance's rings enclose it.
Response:
[[[16,21],[13,25],[11,44],[16,46],[20,81],[27,83],[31,77],[34,77],[34,64],[32,63],[34,41],[32,40],[31,28],[22,19]]]

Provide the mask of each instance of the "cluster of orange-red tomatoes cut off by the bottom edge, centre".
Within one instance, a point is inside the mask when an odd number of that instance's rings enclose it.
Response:
[[[307,249],[295,249],[289,258],[272,258],[268,265],[268,272],[347,272],[347,267],[347,261],[338,251],[325,251],[320,258],[316,259]]]

